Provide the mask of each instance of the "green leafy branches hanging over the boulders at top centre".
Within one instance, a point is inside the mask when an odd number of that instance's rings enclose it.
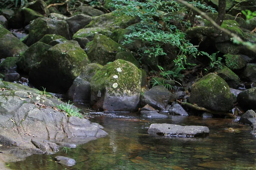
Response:
[[[195,6],[209,9],[215,12],[214,8],[207,8],[201,3],[195,3]],[[197,48],[193,46],[183,30],[190,26],[189,22],[184,20],[181,10],[182,6],[175,0],[115,0],[113,6],[117,9],[118,15],[139,17],[140,24],[129,26],[130,34],[125,34],[123,44],[131,44],[135,40],[141,40],[144,44],[138,50],[141,57],[159,57],[168,53],[163,48],[164,45],[171,45],[178,48],[177,57],[173,60],[179,68],[185,69],[186,56],[192,54],[194,57],[198,53]]]

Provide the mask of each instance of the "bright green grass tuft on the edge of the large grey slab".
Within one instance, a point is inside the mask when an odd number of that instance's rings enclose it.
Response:
[[[64,111],[67,113],[67,116],[76,116],[79,117],[80,119],[83,119],[84,117],[80,114],[80,109],[78,108],[73,108],[73,103],[70,104],[70,101],[66,102],[66,104],[60,104],[57,105],[57,108],[60,109],[61,111]]]

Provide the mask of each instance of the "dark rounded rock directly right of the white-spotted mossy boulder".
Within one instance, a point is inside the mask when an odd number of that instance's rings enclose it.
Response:
[[[166,109],[169,98],[170,92],[163,85],[157,85],[141,96],[141,105],[148,104],[155,109],[162,110]]]

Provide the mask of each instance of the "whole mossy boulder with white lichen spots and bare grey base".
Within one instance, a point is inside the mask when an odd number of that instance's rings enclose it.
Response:
[[[141,71],[131,62],[117,59],[105,65],[91,80],[90,102],[105,111],[136,111],[141,92]]]

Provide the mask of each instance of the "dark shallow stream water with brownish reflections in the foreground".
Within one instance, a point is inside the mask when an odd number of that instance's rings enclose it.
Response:
[[[60,151],[55,155],[33,155],[25,161],[6,164],[13,170],[256,169],[256,138],[250,134],[249,126],[231,119],[144,119],[135,113],[99,112],[88,116],[91,122],[103,125],[109,136],[81,144],[67,154]],[[201,138],[150,136],[147,130],[152,123],[207,126],[210,134]],[[58,155],[75,159],[76,165],[58,164],[54,161]]]

